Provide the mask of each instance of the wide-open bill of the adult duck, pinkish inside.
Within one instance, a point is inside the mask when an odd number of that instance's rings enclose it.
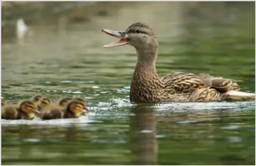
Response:
[[[113,30],[107,30],[107,29],[103,29],[101,31],[108,34],[108,35],[111,35],[113,37],[119,38],[119,40],[116,41],[116,42],[111,42],[109,44],[106,44],[105,46],[103,46],[104,48],[106,48],[106,47],[115,47],[115,46],[123,46],[123,45],[128,44],[127,37],[123,36],[124,31],[113,31]]]

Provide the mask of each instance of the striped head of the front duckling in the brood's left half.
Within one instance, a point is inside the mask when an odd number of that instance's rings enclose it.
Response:
[[[25,113],[28,119],[33,119],[36,117],[36,114],[38,113],[37,111],[37,106],[33,101],[26,100],[20,103],[19,107],[20,111],[22,113]]]

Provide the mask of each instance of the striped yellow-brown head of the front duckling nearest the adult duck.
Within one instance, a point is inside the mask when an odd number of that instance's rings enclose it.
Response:
[[[81,115],[85,115],[86,114],[86,109],[85,109],[85,105],[83,105],[81,102],[78,101],[71,101],[68,105],[67,105],[67,109],[66,111],[70,114],[72,114],[72,116],[74,118],[78,118]]]

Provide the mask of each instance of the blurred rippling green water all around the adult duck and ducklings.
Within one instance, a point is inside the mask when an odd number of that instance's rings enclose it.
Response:
[[[255,2],[1,2],[1,96],[80,96],[90,122],[2,120],[2,164],[255,164],[255,102],[129,103],[131,46],[101,29],[153,27],[159,76],[208,73],[255,92]],[[37,120],[39,121],[39,120]]]

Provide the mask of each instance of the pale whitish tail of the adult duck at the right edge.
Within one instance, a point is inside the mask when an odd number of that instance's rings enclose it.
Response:
[[[254,100],[255,93],[241,92],[236,90],[229,90],[221,94],[223,100]]]

